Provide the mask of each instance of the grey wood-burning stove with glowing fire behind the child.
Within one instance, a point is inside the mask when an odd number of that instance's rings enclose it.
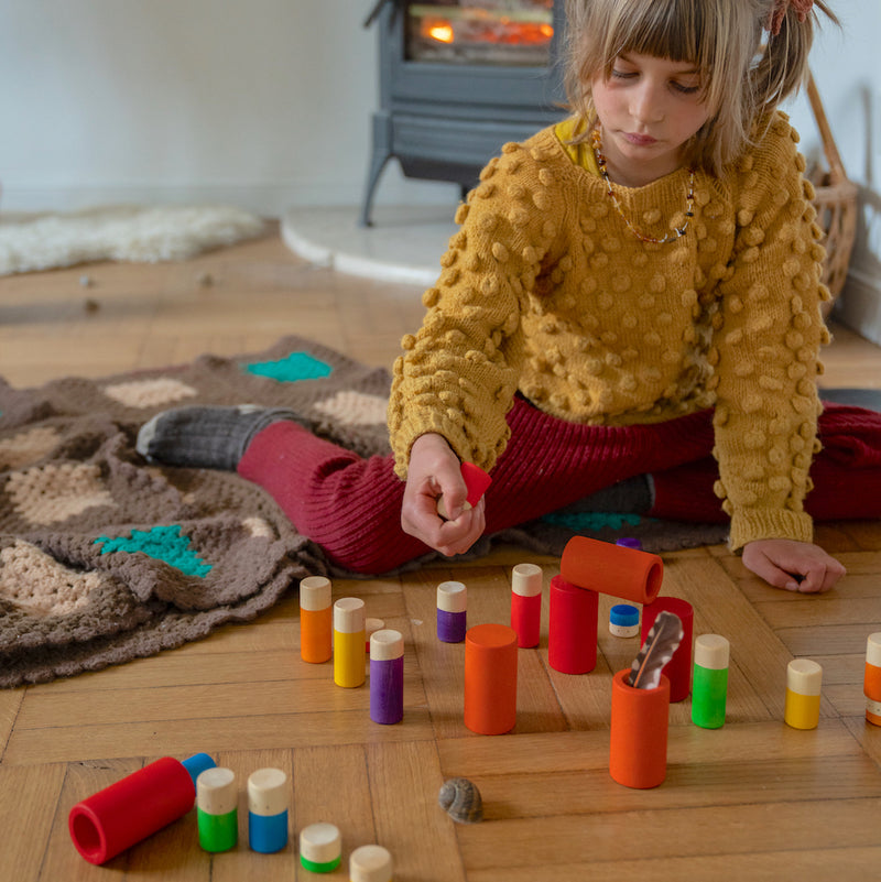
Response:
[[[379,0],[380,109],[361,205],[389,160],[463,192],[507,141],[563,116],[563,0]]]

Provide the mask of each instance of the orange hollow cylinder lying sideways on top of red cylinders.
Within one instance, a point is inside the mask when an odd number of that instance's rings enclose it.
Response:
[[[664,562],[638,548],[573,536],[563,549],[559,574],[579,588],[651,603],[661,590]]]

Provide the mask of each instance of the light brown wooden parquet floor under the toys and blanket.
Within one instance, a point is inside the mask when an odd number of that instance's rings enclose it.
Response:
[[[206,285],[206,274],[210,284]],[[80,279],[88,275],[90,285]],[[87,301],[89,303],[87,303]],[[420,292],[347,279],[290,254],[276,235],[182,264],[101,264],[0,280],[0,375],[14,385],[254,351],[286,333],[312,336],[388,364],[422,315]],[[881,388],[881,349],[846,329],[826,353],[829,385]],[[695,609],[695,634],[731,642],[727,722],[690,722],[671,708],[666,781],[628,790],[609,775],[610,680],[635,640],[605,628],[583,676],[519,656],[512,733],[476,736],[463,721],[463,644],[435,635],[435,588],[468,586],[469,624],[505,622],[511,568],[558,560],[500,548],[391,579],[337,580],[335,598],[363,598],[367,614],[405,638],[404,719],[369,719],[367,687],[341,689],[331,666],[298,654],[294,591],[270,613],[174,652],[48,685],[0,692],[0,880],[348,879],[350,851],[379,842],[396,882],[614,880],[829,880],[881,878],[881,728],[863,717],[866,640],[881,631],[881,524],[817,531],[847,577],[828,595],[771,589],[722,546],[664,555],[663,594]],[[823,665],[820,721],[783,722],[793,657]],[[162,755],[206,751],[244,782],[263,766],[292,781],[292,839],[276,854],[240,845],[202,851],[195,813],[104,868],[67,835],[79,799]],[[445,778],[480,787],[481,824],[454,825],[437,805]],[[307,824],[336,824],[344,864],[329,876],[298,865]]]

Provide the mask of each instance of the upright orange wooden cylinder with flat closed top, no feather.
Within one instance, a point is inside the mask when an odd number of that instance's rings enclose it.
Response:
[[[516,723],[516,631],[477,624],[465,634],[465,725],[479,734]]]

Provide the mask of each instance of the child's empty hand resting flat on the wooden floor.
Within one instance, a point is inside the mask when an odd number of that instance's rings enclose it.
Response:
[[[795,540],[757,540],[743,546],[743,564],[774,588],[802,594],[828,591],[845,567],[818,545]]]

